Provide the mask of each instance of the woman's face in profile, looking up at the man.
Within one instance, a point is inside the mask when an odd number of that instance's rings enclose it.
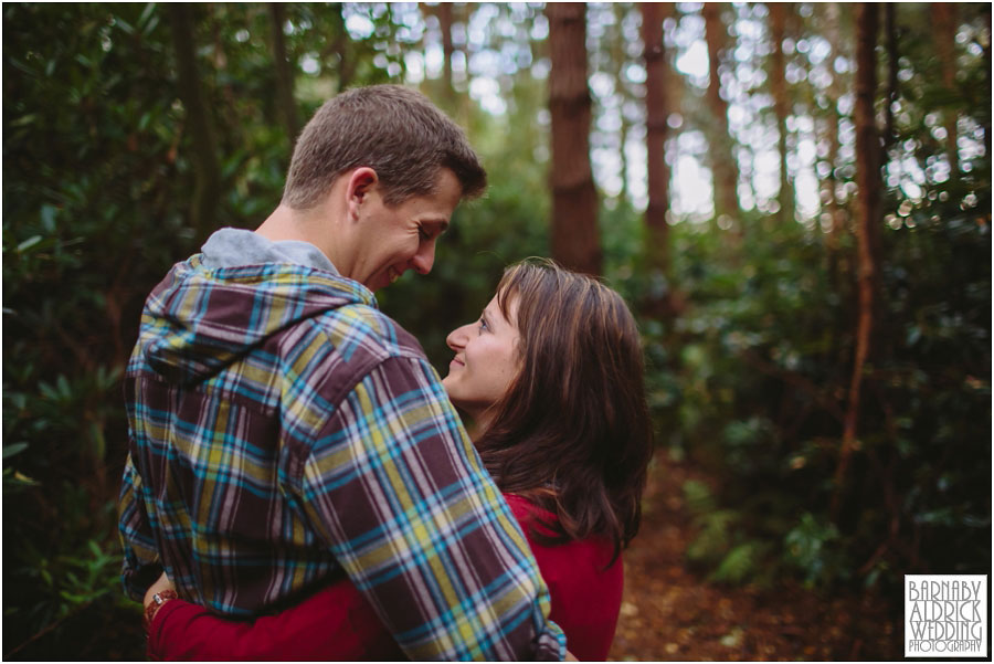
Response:
[[[453,330],[445,339],[456,355],[442,384],[452,402],[480,426],[488,424],[486,411],[504,397],[520,368],[517,313],[517,297],[509,303],[511,319],[507,320],[495,296],[479,320]]]

